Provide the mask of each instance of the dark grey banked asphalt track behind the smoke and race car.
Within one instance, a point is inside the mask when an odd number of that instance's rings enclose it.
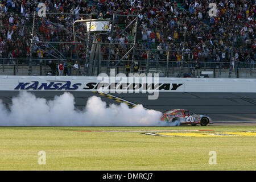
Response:
[[[32,91],[31,91],[32,92]],[[0,91],[0,100],[10,105],[11,98],[19,91]],[[36,97],[52,100],[64,92],[36,91]],[[108,104],[119,102],[94,92],[71,92],[75,97],[76,107],[82,109],[91,96],[98,96]],[[159,92],[157,100],[148,100],[148,93],[112,94],[123,100],[142,104],[147,109],[165,111],[169,109],[188,109],[196,114],[205,114],[213,119],[214,125],[256,125],[255,93],[184,93]]]

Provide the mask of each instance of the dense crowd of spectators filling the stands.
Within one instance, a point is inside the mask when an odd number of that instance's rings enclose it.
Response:
[[[32,15],[39,11],[40,2],[46,4],[47,13],[53,14],[36,17],[32,38],[35,46],[30,49]],[[208,6],[212,2],[217,5],[217,16],[210,17]],[[11,59],[24,58],[20,62],[28,63],[31,53],[41,62],[60,55],[65,59],[85,60],[86,26],[80,23],[76,27],[77,41],[81,44],[75,46],[71,43],[73,22],[89,18],[80,14],[110,19],[115,14],[112,32],[104,36],[103,42],[118,44],[102,46],[103,59],[118,60],[125,55],[134,41],[135,23],[120,32],[133,21],[134,16],[129,15],[138,15],[135,60],[147,59],[143,49],[158,48],[171,50],[171,61],[181,61],[180,51],[185,50],[185,63],[199,60],[206,62],[203,67],[217,65],[210,62],[221,62],[218,64],[221,67],[229,67],[230,61],[254,63],[255,13],[255,2],[249,0],[0,0],[0,59],[9,58],[6,64],[12,64]],[[156,55],[166,61],[166,51],[156,51]],[[131,58],[132,53],[125,60]]]

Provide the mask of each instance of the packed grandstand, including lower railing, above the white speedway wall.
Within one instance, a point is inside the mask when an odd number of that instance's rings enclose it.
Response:
[[[209,16],[210,2],[216,16]],[[140,73],[196,77],[198,60],[209,77],[256,77],[255,3],[247,0],[0,0],[0,74],[47,75],[54,60],[67,68],[78,61],[88,75],[94,34],[84,22],[73,31],[81,18],[112,23],[98,42],[102,61],[93,75],[99,66],[124,73],[125,64],[137,62]]]

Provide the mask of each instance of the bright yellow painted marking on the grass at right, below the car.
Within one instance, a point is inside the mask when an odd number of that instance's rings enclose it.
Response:
[[[207,133],[145,133],[161,137],[256,137],[255,131],[243,132],[207,132]]]

